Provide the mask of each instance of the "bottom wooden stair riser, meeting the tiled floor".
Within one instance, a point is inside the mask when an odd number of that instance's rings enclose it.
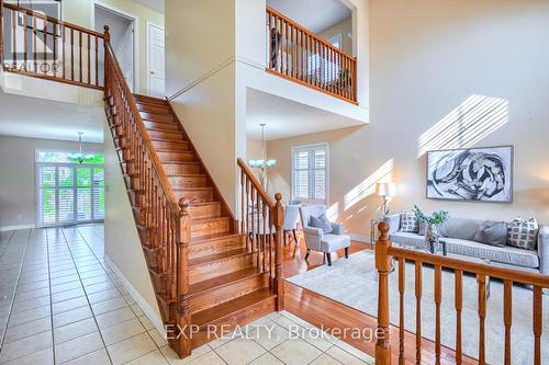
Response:
[[[209,323],[211,324],[210,328],[201,328],[200,331],[194,333],[194,335],[192,337],[192,349],[200,347],[208,342],[220,339],[223,334],[226,335],[226,331],[233,330],[234,328],[236,328],[236,326],[245,326],[247,323],[251,323],[253,321],[273,312],[276,308],[274,300],[276,297],[272,297],[256,303],[253,306],[231,313],[231,316],[223,317],[216,321]],[[220,333],[212,333],[212,329],[219,330]],[[225,333],[221,333],[221,331],[225,331]]]

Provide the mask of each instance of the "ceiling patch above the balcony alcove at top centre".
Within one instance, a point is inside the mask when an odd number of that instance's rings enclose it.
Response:
[[[352,15],[341,0],[267,0],[267,5],[314,33]]]

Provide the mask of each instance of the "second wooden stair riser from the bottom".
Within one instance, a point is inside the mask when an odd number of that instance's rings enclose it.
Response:
[[[267,275],[255,275],[223,287],[192,296],[190,300],[190,310],[195,313],[268,286],[269,280]]]

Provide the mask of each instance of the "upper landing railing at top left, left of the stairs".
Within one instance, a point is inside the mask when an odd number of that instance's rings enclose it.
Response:
[[[0,0],[4,71],[103,89],[104,34]]]

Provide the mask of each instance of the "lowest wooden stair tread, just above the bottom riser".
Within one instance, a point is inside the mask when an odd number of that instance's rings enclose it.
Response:
[[[260,301],[276,297],[268,288],[259,289],[250,294],[244,295],[233,300],[225,301],[215,307],[201,310],[192,315],[192,323],[199,327],[211,323],[216,319],[224,318],[240,309],[256,305]]]

